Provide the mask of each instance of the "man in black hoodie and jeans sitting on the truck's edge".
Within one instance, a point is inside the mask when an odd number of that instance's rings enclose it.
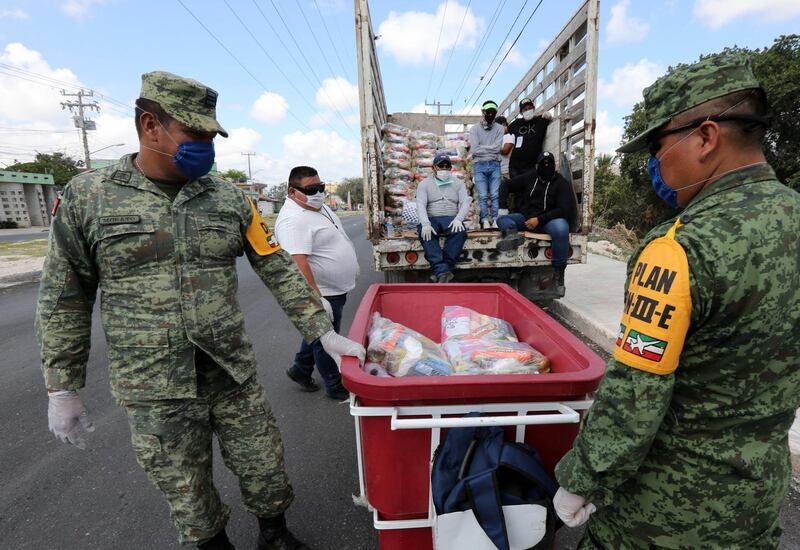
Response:
[[[508,213],[508,194],[514,193],[517,212]],[[570,184],[556,172],[552,153],[539,155],[534,170],[511,178],[500,186],[500,217],[497,226],[503,238],[498,250],[513,250],[525,242],[519,231],[547,233],[552,240],[553,284],[564,295],[564,270],[569,252],[569,229],[575,221],[575,195]]]

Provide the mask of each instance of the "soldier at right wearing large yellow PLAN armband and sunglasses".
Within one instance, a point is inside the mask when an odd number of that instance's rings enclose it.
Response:
[[[591,515],[581,548],[776,548],[800,404],[800,195],[764,159],[746,57],[679,66],[644,101],[647,130],[619,150],[648,148],[656,192],[683,211],[631,257],[554,505],[569,526]]]

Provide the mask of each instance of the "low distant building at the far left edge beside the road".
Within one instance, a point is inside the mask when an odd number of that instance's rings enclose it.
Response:
[[[0,222],[48,227],[56,196],[50,174],[0,170]]]

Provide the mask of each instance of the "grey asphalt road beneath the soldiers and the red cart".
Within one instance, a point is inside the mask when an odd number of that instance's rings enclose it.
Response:
[[[358,287],[344,310],[347,330],[360,296],[382,276],[372,267],[363,218],[343,219],[361,262]],[[296,498],[292,530],[315,549],[377,548],[372,518],[353,504],[358,490],[353,422],[346,404],[306,394],[285,376],[300,337],[246,260],[239,300],[264,385],[283,434]],[[178,549],[167,506],[136,464],[122,410],[108,387],[105,339],[95,317],[84,402],[97,427],[80,451],[47,431],[47,398],[33,335],[36,285],[0,290],[0,548]],[[97,312],[96,312],[97,313]],[[241,505],[234,476],[215,457],[215,478],[231,505],[228,533],[237,548],[254,548],[255,520]],[[800,499],[782,512],[782,549],[800,548]],[[562,530],[559,549],[574,548],[579,530]],[[409,549],[414,550],[414,549]]]

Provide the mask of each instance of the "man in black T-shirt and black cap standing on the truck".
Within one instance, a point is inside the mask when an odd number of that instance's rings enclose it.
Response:
[[[508,125],[507,133],[513,141],[503,144],[502,154],[511,155],[508,163],[509,175],[513,178],[533,170],[533,165],[542,153],[547,126],[553,119],[549,111],[534,114],[533,100],[529,97],[519,102],[520,118]]]

